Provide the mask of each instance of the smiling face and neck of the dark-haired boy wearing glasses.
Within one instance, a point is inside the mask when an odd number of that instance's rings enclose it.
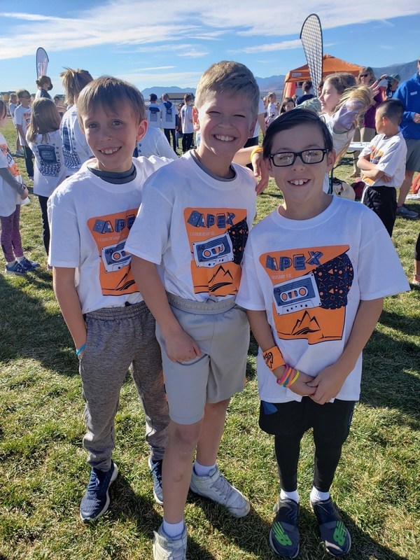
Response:
[[[271,153],[301,152],[325,148],[325,141],[318,126],[302,123],[278,132],[272,141]],[[275,167],[269,160],[269,171],[283,193],[285,204],[280,213],[295,219],[308,219],[325,209],[330,197],[323,193],[325,173],[334,164],[335,153],[328,152],[319,163],[305,164],[299,156],[293,165]]]

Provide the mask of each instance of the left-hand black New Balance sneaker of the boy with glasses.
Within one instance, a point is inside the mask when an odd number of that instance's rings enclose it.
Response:
[[[295,500],[285,498],[274,506],[274,521],[269,530],[269,545],[279,556],[296,558],[299,554],[299,504]]]

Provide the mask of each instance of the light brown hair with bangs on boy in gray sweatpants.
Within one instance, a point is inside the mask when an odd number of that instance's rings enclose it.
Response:
[[[101,76],[88,83],[83,88],[77,100],[77,113],[80,127],[83,128],[82,116],[87,116],[95,107],[100,105],[104,109],[111,109],[118,115],[121,103],[130,105],[136,123],[146,118],[143,95],[135,85],[113,78],[112,76]]]

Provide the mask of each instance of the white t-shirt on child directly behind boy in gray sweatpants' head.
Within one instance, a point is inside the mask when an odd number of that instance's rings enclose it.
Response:
[[[69,107],[64,113],[61,125],[59,125],[59,132],[62,137],[67,175],[72,175],[82,167],[83,162],[92,158],[93,155],[78,123],[76,105]]]

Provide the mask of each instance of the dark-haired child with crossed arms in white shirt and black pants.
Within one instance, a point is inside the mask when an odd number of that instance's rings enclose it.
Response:
[[[400,99],[387,99],[377,107],[374,122],[378,134],[357,162],[366,184],[362,202],[381,218],[390,236],[397,211],[395,189],[400,188],[405,177],[407,144],[398,128],[403,112]]]

